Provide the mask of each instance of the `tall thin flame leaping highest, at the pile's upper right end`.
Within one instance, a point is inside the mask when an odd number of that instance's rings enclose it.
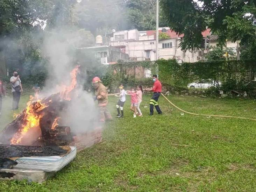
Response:
[[[70,86],[63,86],[63,91],[61,91],[61,98],[70,101],[70,92],[77,86],[77,73],[79,71],[79,65],[77,65],[70,73],[71,84]]]

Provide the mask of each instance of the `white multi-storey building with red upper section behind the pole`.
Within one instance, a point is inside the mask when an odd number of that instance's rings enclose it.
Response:
[[[167,33],[170,38],[158,41],[158,59],[177,59],[179,62],[197,62],[202,55],[201,50],[194,52],[182,51],[179,43],[183,35],[177,35],[170,28],[159,28],[159,33]],[[205,32],[204,32],[205,33]],[[202,33],[203,34],[203,33]],[[203,36],[210,35],[209,30]],[[155,61],[156,38],[155,31],[125,30],[116,31],[110,44],[121,52],[129,55],[131,61]]]

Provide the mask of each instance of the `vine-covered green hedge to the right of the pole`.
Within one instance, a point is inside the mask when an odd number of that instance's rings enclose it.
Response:
[[[217,61],[178,64],[176,60],[157,61],[159,78],[164,85],[186,87],[196,80],[212,79],[222,83],[224,91],[244,90],[254,80],[256,62]]]

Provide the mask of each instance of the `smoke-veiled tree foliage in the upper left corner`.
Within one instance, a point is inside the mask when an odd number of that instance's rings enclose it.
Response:
[[[23,74],[34,76],[45,73],[46,59],[41,45],[48,32],[41,26],[47,21],[47,30],[70,27],[76,3],[76,0],[1,0],[0,55],[9,70],[19,69]]]

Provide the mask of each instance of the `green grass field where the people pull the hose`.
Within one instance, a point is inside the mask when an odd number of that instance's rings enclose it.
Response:
[[[27,96],[22,98],[24,107]],[[144,96],[142,106],[148,106]],[[256,118],[254,100],[170,96],[186,111]],[[256,191],[255,121],[181,115],[161,97],[163,115],[106,124],[103,142],[43,184],[0,182],[0,191]],[[116,98],[109,109],[115,112]],[[10,111],[1,117],[12,120]],[[4,123],[2,123],[4,122]],[[176,146],[188,145],[189,147]]]

